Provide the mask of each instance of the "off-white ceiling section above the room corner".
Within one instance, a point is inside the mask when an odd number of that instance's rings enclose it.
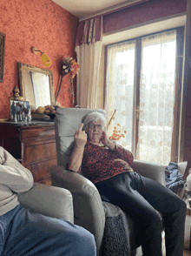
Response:
[[[142,0],[52,0],[79,19],[88,18],[111,10],[142,2]]]

